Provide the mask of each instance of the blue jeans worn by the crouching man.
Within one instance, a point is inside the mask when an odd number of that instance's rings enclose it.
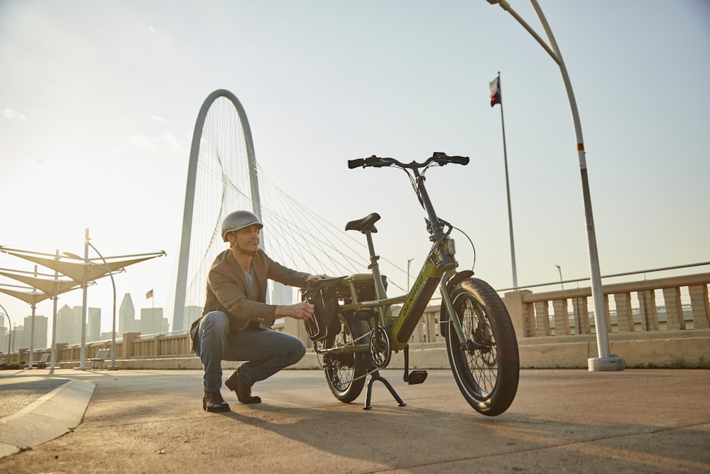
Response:
[[[229,317],[222,311],[207,313],[195,335],[195,353],[204,367],[202,384],[208,392],[222,387],[222,360],[245,360],[236,370],[249,385],[293,365],[305,355],[300,339],[275,330],[240,330],[229,333]]]

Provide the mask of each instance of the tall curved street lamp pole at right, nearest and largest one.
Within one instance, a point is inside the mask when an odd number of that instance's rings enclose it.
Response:
[[[518,23],[520,23],[525,30],[535,38],[537,43],[540,43],[542,48],[547,51],[552,60],[559,66],[559,72],[562,75],[562,82],[564,82],[564,89],[567,91],[567,99],[569,100],[569,109],[572,112],[572,122],[574,122],[574,132],[577,136],[577,157],[579,159],[579,171],[581,173],[581,188],[582,188],[582,198],[584,200],[584,215],[586,217],[586,239],[587,247],[589,249],[589,271],[591,273],[591,296],[594,300],[594,323],[596,325],[596,345],[599,350],[599,357],[590,357],[587,360],[589,366],[589,371],[593,372],[596,370],[623,370],[624,362],[621,357],[616,355],[611,355],[609,351],[609,336],[607,333],[606,326],[606,301],[604,300],[604,293],[601,287],[601,270],[599,269],[599,253],[596,249],[596,233],[594,232],[594,216],[591,212],[591,195],[589,193],[589,179],[587,178],[586,171],[586,158],[584,151],[584,139],[581,135],[581,123],[579,122],[579,112],[577,111],[577,100],[574,99],[574,92],[572,92],[572,83],[569,81],[569,75],[567,74],[567,67],[564,65],[564,60],[562,60],[562,54],[557,48],[557,41],[555,41],[555,36],[552,35],[552,30],[550,25],[547,23],[545,15],[542,14],[542,9],[540,5],[537,4],[537,0],[530,0],[532,8],[535,9],[535,14],[542,24],[542,28],[545,30],[545,35],[550,41],[550,45],[547,45],[540,36],[535,33],[528,23],[520,17],[515,11],[510,7],[508,1],[506,0],[487,0],[489,4],[498,4],[505,11],[508,11],[510,15],[515,18]]]

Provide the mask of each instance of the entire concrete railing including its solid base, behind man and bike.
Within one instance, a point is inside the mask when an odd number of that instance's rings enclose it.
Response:
[[[643,280],[603,286],[608,339],[611,352],[627,367],[710,368],[710,273]],[[590,310],[589,288],[532,293],[521,290],[505,294],[520,348],[521,367],[587,367],[597,357],[594,308]],[[286,319],[276,330],[292,334],[312,347],[300,321]],[[87,359],[111,341],[89,343]],[[439,306],[430,306],[410,339],[412,368],[447,368],[445,340],[439,333]],[[141,335],[126,333],[115,343],[119,368],[195,368],[200,360],[190,352],[187,333]],[[49,349],[35,351],[39,360]],[[58,344],[56,363],[75,367],[80,345]],[[111,357],[109,355],[110,360]],[[9,362],[28,360],[21,349]],[[224,362],[225,367],[238,362]],[[315,352],[296,367],[318,368]],[[391,367],[403,367],[402,354],[393,356]]]

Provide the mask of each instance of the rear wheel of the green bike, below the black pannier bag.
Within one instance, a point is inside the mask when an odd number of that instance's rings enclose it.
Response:
[[[324,348],[338,348],[344,345],[368,343],[362,321],[343,318],[342,330],[331,340],[324,343]],[[325,355],[323,365],[325,379],[330,391],[341,402],[350,403],[362,392],[365,385],[365,375],[368,367],[368,352],[343,352],[336,355]]]

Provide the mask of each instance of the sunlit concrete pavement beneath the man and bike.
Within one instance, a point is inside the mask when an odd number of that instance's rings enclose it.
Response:
[[[6,473],[710,472],[707,370],[523,370],[494,418],[448,370],[413,386],[381,371],[407,406],[375,382],[368,411],[365,391],[343,404],[322,372],[286,370],[256,384],[261,404],[223,388],[224,413],[202,410],[198,370],[4,372],[0,406],[29,403],[0,413]],[[18,381],[53,392],[32,400]],[[62,425],[48,440],[27,434]]]

